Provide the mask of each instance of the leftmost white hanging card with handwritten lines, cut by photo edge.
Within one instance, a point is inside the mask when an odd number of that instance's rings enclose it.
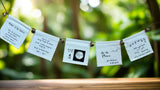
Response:
[[[0,38],[19,49],[30,29],[28,25],[8,15],[0,30]]]

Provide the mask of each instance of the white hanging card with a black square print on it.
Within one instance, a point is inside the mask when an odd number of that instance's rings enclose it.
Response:
[[[90,41],[66,38],[63,62],[88,65]]]

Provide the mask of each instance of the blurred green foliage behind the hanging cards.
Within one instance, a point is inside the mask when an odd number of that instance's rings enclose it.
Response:
[[[11,15],[38,30],[61,38],[74,38],[73,7],[71,0],[27,0],[32,10],[26,14],[22,7],[15,9],[16,0],[3,0]],[[20,0],[19,0],[20,1]],[[83,0],[80,0],[82,4]],[[100,0],[98,7],[86,4],[88,10],[79,9],[78,21],[82,40],[112,41],[131,36],[152,24],[149,9],[144,0]],[[158,1],[159,2],[159,1]],[[27,4],[27,3],[26,3]],[[25,5],[25,4],[24,4]],[[77,6],[79,6],[77,5]],[[13,10],[13,8],[16,10]],[[29,8],[29,7],[28,7]],[[27,9],[28,10],[28,9]],[[26,11],[27,11],[26,10]],[[40,11],[39,17],[34,11]],[[4,9],[0,6],[0,13]],[[35,15],[38,15],[38,13]],[[0,26],[6,17],[0,14]],[[45,23],[46,20],[46,23]],[[46,24],[46,25],[45,25]],[[44,30],[44,27],[47,30]],[[148,33],[151,40],[160,40],[159,30]],[[44,79],[44,78],[108,78],[108,77],[154,77],[156,62],[154,55],[130,62],[122,46],[123,65],[97,68],[95,48],[90,50],[87,67],[62,62],[64,44],[59,43],[52,62],[26,53],[33,34],[29,33],[19,50],[0,40],[0,79]]]

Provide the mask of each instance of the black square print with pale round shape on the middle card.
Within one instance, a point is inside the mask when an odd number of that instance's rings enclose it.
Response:
[[[85,53],[86,53],[86,51],[75,49],[73,60],[74,61],[79,61],[79,62],[84,62]]]

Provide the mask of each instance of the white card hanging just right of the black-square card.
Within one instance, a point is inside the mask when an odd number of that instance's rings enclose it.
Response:
[[[96,42],[97,67],[121,65],[120,40]]]

